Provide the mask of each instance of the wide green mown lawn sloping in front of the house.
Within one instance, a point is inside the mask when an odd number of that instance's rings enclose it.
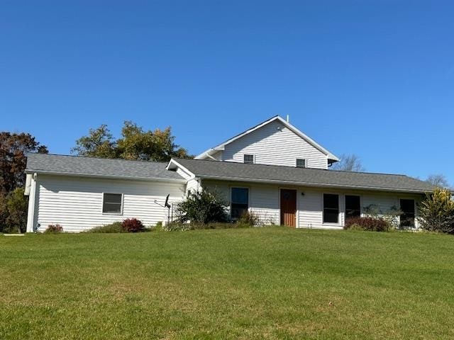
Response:
[[[0,339],[454,339],[454,237],[0,235]]]

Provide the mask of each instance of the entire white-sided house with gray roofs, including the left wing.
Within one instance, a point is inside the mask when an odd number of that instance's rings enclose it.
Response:
[[[402,210],[417,227],[417,203],[433,186],[404,175],[329,170],[338,157],[279,116],[206,150],[169,163],[28,154],[27,232],[60,224],[80,232],[135,217],[167,221],[163,205],[188,191],[222,193],[236,219],[248,210],[263,224],[338,229],[372,208]]]

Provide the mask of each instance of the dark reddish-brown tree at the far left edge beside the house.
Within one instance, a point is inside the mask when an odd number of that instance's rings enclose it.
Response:
[[[0,193],[24,186],[27,152],[47,154],[48,148],[29,133],[0,132]]]

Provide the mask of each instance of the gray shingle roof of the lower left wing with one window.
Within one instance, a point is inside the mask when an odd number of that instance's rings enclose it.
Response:
[[[105,176],[123,179],[182,179],[165,169],[167,163],[64,156],[57,154],[27,154],[26,172]]]

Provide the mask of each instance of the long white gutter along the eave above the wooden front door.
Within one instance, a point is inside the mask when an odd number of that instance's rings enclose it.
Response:
[[[309,186],[311,188],[349,188],[349,189],[358,189],[358,190],[367,190],[367,191],[391,191],[391,192],[400,192],[400,193],[430,193],[430,190],[421,191],[417,189],[402,189],[402,188],[380,188],[375,186],[348,186],[343,184],[324,184],[324,183],[309,183],[309,182],[294,182],[294,181],[279,181],[273,179],[244,179],[240,177],[226,177],[226,176],[204,176],[199,175],[200,179],[211,179],[211,180],[221,180],[221,181],[236,181],[236,182],[254,182],[254,183],[269,183],[269,184],[291,184],[297,186]]]

